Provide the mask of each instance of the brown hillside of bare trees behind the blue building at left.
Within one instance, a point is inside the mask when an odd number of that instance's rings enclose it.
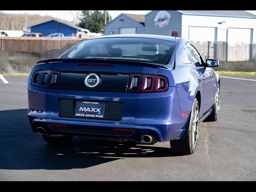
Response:
[[[27,14],[27,26],[45,20],[52,19],[52,16],[40,16],[38,14]],[[63,20],[65,21],[65,20]],[[26,15],[24,14],[5,14],[0,12],[0,30],[22,30],[26,25]]]

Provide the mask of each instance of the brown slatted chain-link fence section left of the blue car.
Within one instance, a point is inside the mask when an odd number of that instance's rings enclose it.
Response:
[[[39,60],[58,58],[81,40],[0,38],[0,74],[30,73]]]

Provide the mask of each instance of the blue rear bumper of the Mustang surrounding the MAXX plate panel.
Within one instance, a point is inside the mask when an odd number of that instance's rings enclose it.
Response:
[[[63,117],[58,110],[59,99],[122,102],[122,119]],[[181,114],[190,114],[190,110],[180,109],[175,87],[159,93],[127,93],[49,89],[28,83],[28,106],[33,132],[43,126],[47,134],[105,136],[137,142],[145,133],[154,134],[160,142],[180,139],[189,117],[181,118]]]

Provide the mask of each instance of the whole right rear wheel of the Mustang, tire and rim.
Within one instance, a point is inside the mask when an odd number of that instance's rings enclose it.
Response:
[[[170,141],[172,152],[190,155],[196,150],[199,135],[199,105],[196,98],[192,106],[187,128],[188,134],[184,139]]]

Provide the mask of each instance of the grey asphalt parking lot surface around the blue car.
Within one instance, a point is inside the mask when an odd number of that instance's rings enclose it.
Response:
[[[203,122],[195,154],[170,143],[74,137],[52,146],[28,122],[28,76],[0,80],[0,180],[256,180],[256,76],[221,78],[220,118]],[[250,79],[250,80],[244,80]]]

